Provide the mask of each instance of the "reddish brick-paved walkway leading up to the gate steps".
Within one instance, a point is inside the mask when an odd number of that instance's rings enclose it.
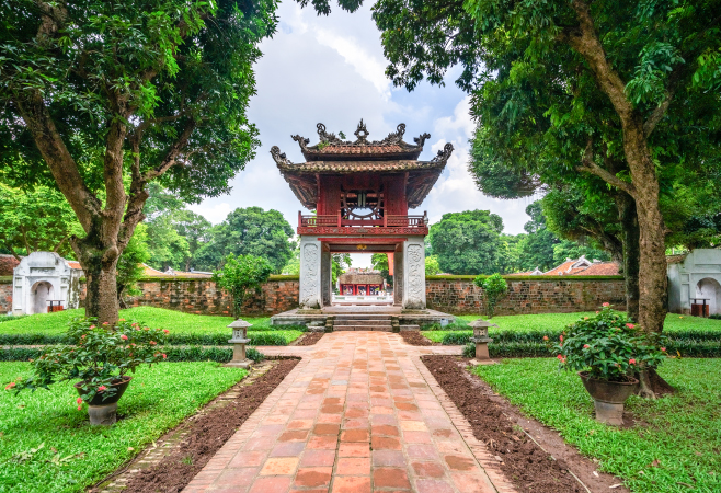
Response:
[[[304,359],[185,492],[514,491],[420,360],[458,348],[335,332],[263,352]]]

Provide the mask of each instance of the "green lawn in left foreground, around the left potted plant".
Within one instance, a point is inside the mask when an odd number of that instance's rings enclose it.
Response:
[[[28,374],[27,363],[0,363],[3,388]],[[69,382],[0,390],[0,492],[84,491],[245,375],[207,362],[141,368],[118,403],[124,419],[110,428],[90,426]]]

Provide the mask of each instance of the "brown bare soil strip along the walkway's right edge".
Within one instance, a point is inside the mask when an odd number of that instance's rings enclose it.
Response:
[[[620,479],[596,471],[596,465],[566,445],[557,432],[523,415],[488,383],[466,371],[469,359],[459,356],[421,359],[466,416],[476,438],[496,455],[501,470],[518,492],[628,493]]]

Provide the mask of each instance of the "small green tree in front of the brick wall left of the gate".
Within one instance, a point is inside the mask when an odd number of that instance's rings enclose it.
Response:
[[[226,256],[222,268],[213,273],[213,280],[230,294],[232,316],[239,318],[250,290],[260,293],[271,272],[273,267],[262,256],[236,256],[230,253]]]

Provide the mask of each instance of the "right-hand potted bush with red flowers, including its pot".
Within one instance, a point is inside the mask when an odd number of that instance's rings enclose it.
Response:
[[[666,357],[660,335],[643,332],[609,303],[569,325],[551,351],[562,369],[579,372],[594,400],[596,421],[616,426],[623,424],[623,404],[638,390],[637,375]]]

